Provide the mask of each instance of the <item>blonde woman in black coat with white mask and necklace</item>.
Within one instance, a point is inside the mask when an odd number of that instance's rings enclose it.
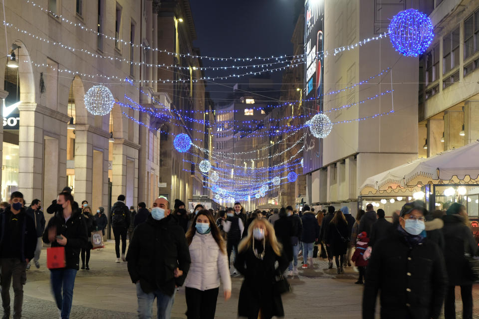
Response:
[[[276,240],[273,226],[265,219],[255,219],[248,235],[238,246],[236,269],[244,276],[241,284],[238,316],[248,319],[284,317],[281,295],[273,289],[275,277],[288,267]],[[278,262],[278,268],[275,263]]]

